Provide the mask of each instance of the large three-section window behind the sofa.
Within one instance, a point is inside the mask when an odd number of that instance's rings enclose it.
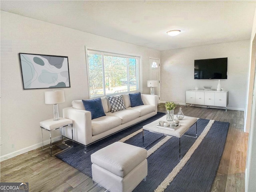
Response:
[[[88,50],[90,97],[139,90],[140,58]]]

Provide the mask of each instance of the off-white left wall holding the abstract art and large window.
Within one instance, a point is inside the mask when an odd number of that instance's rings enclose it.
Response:
[[[23,90],[18,53],[68,56],[71,88],[60,89],[62,116],[72,100],[88,98],[85,46],[141,56],[142,92],[150,92],[148,60],[160,58],[160,51],[1,11],[1,160],[42,146],[39,122],[53,118],[52,105],[44,103],[49,89]]]

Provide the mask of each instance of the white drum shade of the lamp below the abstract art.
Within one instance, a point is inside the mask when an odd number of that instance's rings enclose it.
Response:
[[[64,91],[54,90],[44,92],[45,104],[58,104],[65,102]]]

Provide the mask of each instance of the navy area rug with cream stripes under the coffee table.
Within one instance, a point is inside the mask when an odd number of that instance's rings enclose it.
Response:
[[[142,126],[160,118],[164,113],[140,122],[104,140],[87,147],[76,144],[57,155],[58,158],[92,177],[90,155],[113,142],[122,141],[142,147]],[[181,158],[179,140],[175,137],[144,132],[144,146],[148,147],[148,176],[134,192],[175,191],[207,192],[211,190],[228,132],[228,122],[198,119],[198,138],[181,137]],[[186,134],[194,135],[196,126]],[[155,141],[155,142],[154,142]],[[152,143],[153,142],[153,143]]]

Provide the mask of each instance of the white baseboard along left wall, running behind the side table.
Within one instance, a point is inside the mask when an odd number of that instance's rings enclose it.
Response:
[[[52,142],[61,140],[61,138],[62,138],[61,136],[54,137],[54,138],[52,138]],[[44,141],[44,145],[47,145],[47,144],[50,144],[50,139]],[[18,155],[21,155],[23,153],[29,152],[31,150],[37,149],[39,147],[42,147],[42,142],[34,144],[34,145],[26,147],[26,148],[23,148],[23,149],[20,149],[20,150],[17,150],[17,151],[14,151],[14,152],[11,152],[11,153],[8,153],[6,155],[0,156],[0,162],[10,159],[10,158],[13,158]]]

